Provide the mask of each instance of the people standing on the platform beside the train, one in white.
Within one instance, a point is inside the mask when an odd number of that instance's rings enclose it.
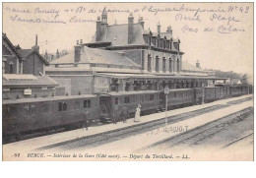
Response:
[[[123,106],[121,108],[121,112],[119,112],[120,110],[118,109],[117,106],[114,106],[113,108],[113,112],[112,112],[112,122],[113,124],[116,124],[118,120],[123,121],[123,123],[127,122],[127,119],[130,115],[129,110],[126,106]],[[83,125],[83,129],[86,128],[86,130],[88,130],[89,127],[89,118],[88,118],[88,111],[81,113],[81,117],[84,119],[84,125]],[[140,117],[141,117],[141,105],[138,104],[137,108],[136,108],[136,112],[135,112],[135,117],[134,117],[134,122],[140,122]]]

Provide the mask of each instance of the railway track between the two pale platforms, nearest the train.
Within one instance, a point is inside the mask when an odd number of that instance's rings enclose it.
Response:
[[[192,117],[196,117],[208,112],[212,112],[215,110],[219,110],[225,107],[228,107],[229,105],[215,105],[207,108],[203,108],[196,111],[191,111],[184,114],[179,114],[175,116],[171,116],[167,118],[167,124],[173,124],[176,122],[180,122],[183,120],[187,120]],[[83,137],[83,138],[77,138],[75,140],[58,143],[54,145],[50,145],[43,148],[38,149],[58,149],[58,150],[68,150],[68,149],[74,149],[74,148],[94,148],[98,147],[107,143],[111,143],[114,141],[118,141],[130,136],[136,136],[138,134],[146,133],[155,129],[158,129],[162,126],[165,126],[165,118],[161,118],[159,120],[151,121],[148,123],[142,123],[136,126],[129,126],[113,131],[103,132],[100,134],[96,134],[93,136]]]

